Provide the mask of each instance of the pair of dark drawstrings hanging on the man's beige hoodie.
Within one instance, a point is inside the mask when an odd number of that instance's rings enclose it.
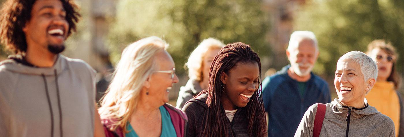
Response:
[[[59,128],[60,128],[60,136],[63,137],[63,121],[62,121],[62,110],[61,110],[61,103],[60,103],[60,95],[59,95],[59,83],[57,82],[57,72],[55,72],[55,84],[56,84],[56,94],[57,94],[57,105],[59,108]],[[53,137],[53,110],[52,110],[52,104],[50,103],[50,97],[49,97],[49,91],[48,91],[48,84],[46,82],[46,77],[45,74],[42,74],[42,78],[44,79],[45,83],[45,91],[46,91],[46,98],[48,99],[48,105],[49,105],[49,110],[50,110],[50,121],[51,121],[51,130],[50,130],[50,136]]]

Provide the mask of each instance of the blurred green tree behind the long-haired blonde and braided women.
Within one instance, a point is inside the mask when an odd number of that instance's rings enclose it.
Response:
[[[131,42],[159,36],[170,47],[179,74],[190,52],[209,37],[225,44],[250,44],[261,56],[269,53],[269,26],[261,0],[120,0],[108,37],[113,62]],[[267,56],[267,55],[265,55]]]

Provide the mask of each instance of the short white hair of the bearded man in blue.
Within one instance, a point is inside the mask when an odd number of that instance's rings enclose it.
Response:
[[[302,40],[313,40],[314,46],[316,47],[316,51],[318,52],[318,41],[316,39],[316,35],[310,31],[296,31],[290,35],[288,51],[291,51],[299,46],[299,42]]]

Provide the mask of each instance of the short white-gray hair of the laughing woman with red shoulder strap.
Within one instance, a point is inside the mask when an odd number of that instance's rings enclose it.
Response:
[[[371,57],[360,51],[351,51],[343,55],[338,61],[351,60],[359,64],[364,80],[377,78],[377,64]]]

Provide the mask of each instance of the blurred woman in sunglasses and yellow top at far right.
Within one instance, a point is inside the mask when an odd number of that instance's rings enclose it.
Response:
[[[368,103],[389,116],[396,129],[396,136],[404,136],[403,101],[396,90],[400,87],[400,75],[396,72],[397,54],[385,40],[374,40],[368,45],[367,55],[377,62],[379,72],[372,91],[366,95]]]

